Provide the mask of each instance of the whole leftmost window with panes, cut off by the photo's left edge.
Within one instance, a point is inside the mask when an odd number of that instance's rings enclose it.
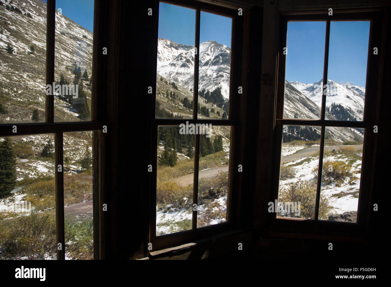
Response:
[[[99,256],[94,4],[0,5],[0,258]]]

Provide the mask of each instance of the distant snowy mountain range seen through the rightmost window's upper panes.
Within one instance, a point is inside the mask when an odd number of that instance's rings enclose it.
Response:
[[[297,90],[301,91],[305,97],[312,100],[317,106],[322,104],[323,80],[317,83],[304,84],[297,81],[290,82]],[[326,94],[326,106],[333,103],[340,104],[347,113],[351,115],[350,120],[362,120],[364,114],[365,88],[355,86],[349,82],[339,84],[332,80],[327,80],[328,88]],[[327,118],[326,119],[330,119]]]

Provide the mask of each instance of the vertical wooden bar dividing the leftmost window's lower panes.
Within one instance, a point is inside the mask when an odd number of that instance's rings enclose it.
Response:
[[[56,133],[54,137],[54,168],[57,260],[65,260],[63,133]]]

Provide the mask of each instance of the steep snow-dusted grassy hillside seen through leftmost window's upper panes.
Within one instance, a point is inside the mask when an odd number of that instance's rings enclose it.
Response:
[[[74,78],[73,64],[81,73],[92,71],[93,34],[56,13],[55,80],[61,74],[70,83]],[[8,46],[9,45],[9,46]],[[30,47],[34,47],[34,52]],[[7,47],[15,53],[7,52]],[[0,113],[0,123],[32,122],[38,109],[45,118],[46,4],[41,0],[0,0],[0,104],[7,113]],[[89,81],[84,83],[88,104]],[[56,122],[80,121],[79,114],[65,100],[54,98]]]

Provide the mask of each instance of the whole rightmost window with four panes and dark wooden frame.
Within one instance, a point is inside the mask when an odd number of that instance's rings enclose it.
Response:
[[[355,224],[362,226],[376,132],[372,107],[378,79],[370,71],[378,61],[373,47],[380,37],[374,15],[282,17],[274,157],[279,164],[273,176],[277,206],[271,217],[276,226],[322,231],[334,231],[336,222],[354,230]],[[326,222],[334,227],[321,225]]]

